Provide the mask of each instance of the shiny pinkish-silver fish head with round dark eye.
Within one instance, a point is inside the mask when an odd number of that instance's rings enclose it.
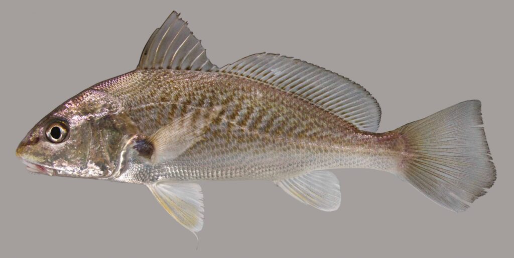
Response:
[[[104,92],[86,90],[42,118],[16,149],[31,172],[68,177],[105,178],[113,173],[112,142],[122,133],[111,117],[118,102]],[[112,152],[112,151],[111,151]]]

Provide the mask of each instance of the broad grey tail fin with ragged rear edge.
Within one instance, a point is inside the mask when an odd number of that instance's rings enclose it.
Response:
[[[496,180],[480,101],[465,101],[395,131],[407,144],[399,176],[432,201],[465,211]]]

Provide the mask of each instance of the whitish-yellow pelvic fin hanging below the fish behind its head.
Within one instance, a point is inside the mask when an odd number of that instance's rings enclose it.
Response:
[[[164,180],[146,186],[180,225],[193,233],[204,226],[204,195],[198,184]]]

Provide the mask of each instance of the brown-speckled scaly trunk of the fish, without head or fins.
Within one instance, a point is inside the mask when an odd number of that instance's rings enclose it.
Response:
[[[164,163],[131,163],[114,178],[120,182],[274,181],[316,169],[390,170],[391,153],[401,151],[394,133],[361,131],[291,94],[233,75],[142,70],[90,90],[119,101],[123,109],[114,116],[126,116],[140,135],[194,110],[222,107],[201,141]]]

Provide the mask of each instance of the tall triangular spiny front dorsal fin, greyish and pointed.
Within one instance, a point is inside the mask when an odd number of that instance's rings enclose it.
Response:
[[[146,42],[137,69],[217,71],[201,42],[173,11]]]

